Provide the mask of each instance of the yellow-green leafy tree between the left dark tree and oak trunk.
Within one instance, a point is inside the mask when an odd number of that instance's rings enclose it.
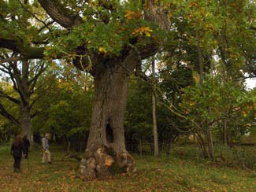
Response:
[[[70,141],[72,147],[79,145],[84,149],[91,120],[93,82],[89,76],[83,76],[67,64],[58,65],[54,73],[50,89],[37,102],[37,109],[46,110],[33,120],[34,130],[54,131],[55,141],[65,146]],[[40,79],[40,83],[44,81],[44,78]]]

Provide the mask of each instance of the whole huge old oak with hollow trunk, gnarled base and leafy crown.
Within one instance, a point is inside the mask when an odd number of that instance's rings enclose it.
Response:
[[[135,161],[124,144],[124,110],[129,76],[135,68],[139,70],[141,60],[158,52],[162,36],[158,33],[169,28],[168,6],[165,1],[156,2],[38,0],[0,4],[0,47],[17,53],[8,61],[66,58],[94,76],[90,135],[77,172],[83,179],[105,178],[114,162],[123,171],[135,171]],[[113,141],[106,138],[108,123]]]

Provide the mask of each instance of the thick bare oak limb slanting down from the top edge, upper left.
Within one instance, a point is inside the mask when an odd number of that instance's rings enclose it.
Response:
[[[58,0],[38,0],[38,2],[46,13],[63,28],[72,28],[72,26],[79,25],[83,21],[78,13],[72,13],[70,9],[61,5]]]

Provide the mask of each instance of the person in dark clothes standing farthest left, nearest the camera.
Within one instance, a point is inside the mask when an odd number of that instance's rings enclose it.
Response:
[[[22,152],[24,151],[24,142],[22,141],[22,138],[20,135],[17,135],[16,138],[14,138],[13,145],[11,147],[11,154],[14,158],[14,172],[20,172],[20,162],[22,157]]]

